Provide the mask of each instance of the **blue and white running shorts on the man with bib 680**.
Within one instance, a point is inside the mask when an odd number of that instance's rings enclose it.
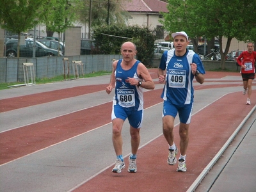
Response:
[[[126,120],[128,118],[129,124],[139,129],[142,125],[143,120],[143,110],[140,111],[131,111],[129,108],[123,108],[121,106],[115,105],[112,109],[111,119],[121,118],[122,120]]]

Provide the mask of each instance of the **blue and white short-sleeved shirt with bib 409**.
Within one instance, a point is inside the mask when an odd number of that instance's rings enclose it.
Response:
[[[198,54],[187,49],[184,56],[176,56],[175,49],[165,51],[159,68],[166,69],[166,83],[161,97],[173,104],[191,104],[194,97],[191,63],[196,63],[197,70],[205,74],[204,66]]]

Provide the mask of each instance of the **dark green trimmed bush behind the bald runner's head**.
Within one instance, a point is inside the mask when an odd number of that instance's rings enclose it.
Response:
[[[156,36],[148,28],[139,26],[98,26],[93,30],[95,39],[94,53],[120,54],[120,47],[124,42],[131,41],[137,47],[137,59],[150,67],[154,57],[154,42]]]

